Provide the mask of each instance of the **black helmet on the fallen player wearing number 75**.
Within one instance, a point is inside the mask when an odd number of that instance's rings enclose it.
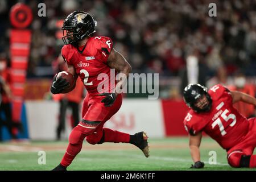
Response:
[[[203,109],[200,109],[195,106],[195,103],[203,95],[207,97],[209,104]],[[186,86],[183,91],[183,99],[187,106],[193,109],[196,113],[207,112],[212,108],[212,98],[210,98],[207,88],[200,84],[189,84]]]

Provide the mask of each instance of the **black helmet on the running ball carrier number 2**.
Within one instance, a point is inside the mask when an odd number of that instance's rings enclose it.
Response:
[[[93,34],[96,26],[97,22],[90,14],[84,11],[74,11],[63,22],[62,40],[66,45],[76,43]],[[68,32],[72,32],[72,34],[69,35]]]

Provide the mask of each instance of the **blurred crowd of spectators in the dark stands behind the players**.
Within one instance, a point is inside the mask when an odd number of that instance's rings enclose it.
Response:
[[[41,1],[2,0],[0,31],[5,36],[0,38],[0,57],[6,59],[10,30],[6,17],[16,2],[26,3],[34,14],[28,77],[53,76],[52,61],[63,46],[60,20],[75,10],[86,11],[97,20],[95,35],[112,38],[133,72],[182,78],[191,68],[188,61],[196,59],[200,78],[206,80],[238,71],[256,75],[254,0],[46,0],[46,17],[38,16]],[[208,15],[209,3],[216,3],[217,17]]]

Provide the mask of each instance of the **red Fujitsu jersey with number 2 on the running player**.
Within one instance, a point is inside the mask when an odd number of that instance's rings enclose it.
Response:
[[[81,46],[81,50],[84,46]],[[89,37],[84,51],[81,53],[71,44],[63,46],[61,53],[67,64],[75,67],[77,75],[84,82],[85,88],[90,95],[111,93],[115,88],[115,76],[106,64],[113,42],[105,36]],[[103,73],[100,75],[100,73]],[[110,76],[111,73],[111,76]],[[100,84],[100,85],[99,85]]]

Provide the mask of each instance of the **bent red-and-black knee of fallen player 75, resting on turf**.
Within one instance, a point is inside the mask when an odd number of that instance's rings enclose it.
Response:
[[[250,155],[245,155],[241,151],[233,151],[228,156],[228,163],[232,167],[249,167]]]

